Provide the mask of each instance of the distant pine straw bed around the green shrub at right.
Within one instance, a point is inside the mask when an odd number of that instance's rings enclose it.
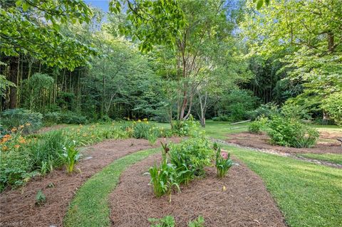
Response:
[[[342,132],[341,132],[342,136]],[[337,137],[337,136],[336,136]],[[326,137],[323,134],[320,135],[321,139],[333,139],[336,137]],[[317,142],[314,147],[311,148],[295,148],[295,147],[282,147],[271,144],[269,137],[266,134],[252,134],[249,132],[241,132],[227,135],[227,142],[239,144],[244,147],[253,147],[258,149],[271,149],[278,152],[284,152],[289,154],[300,153],[316,153],[316,154],[342,154],[341,143],[336,142]]]

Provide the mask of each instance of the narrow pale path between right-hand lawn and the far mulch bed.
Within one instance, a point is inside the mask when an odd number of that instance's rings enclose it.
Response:
[[[255,147],[249,147],[249,146],[242,146],[242,145],[237,144],[235,142],[227,142],[227,141],[224,141],[222,139],[211,139],[211,140],[213,142],[218,142],[218,143],[226,144],[229,146],[241,147],[241,148],[245,148],[245,149],[252,149],[256,152],[263,152],[263,153],[267,153],[267,154],[275,154],[275,155],[282,156],[282,157],[291,157],[293,159],[299,159],[299,160],[306,161],[306,162],[313,162],[315,164],[323,164],[327,167],[334,167],[334,168],[342,169],[341,164],[336,164],[336,163],[332,163],[332,162],[326,162],[326,161],[321,161],[321,160],[317,160],[317,159],[309,159],[306,157],[297,156],[296,153],[300,153],[300,152],[296,152],[293,154],[293,153],[289,153],[289,152],[281,152],[281,151],[275,150],[275,149],[262,149],[262,148],[255,148]],[[279,146],[275,146],[275,147],[279,147]],[[286,147],[286,148],[293,148],[293,147]],[[337,154],[339,154],[339,153],[337,153]],[[342,148],[341,148],[341,154],[342,154]]]

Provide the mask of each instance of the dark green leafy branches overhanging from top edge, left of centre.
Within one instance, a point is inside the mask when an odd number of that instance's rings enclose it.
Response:
[[[151,51],[155,44],[172,46],[185,26],[185,16],[178,1],[125,1],[111,0],[110,11],[119,14],[125,9],[126,21],[119,31],[140,41],[141,51]]]

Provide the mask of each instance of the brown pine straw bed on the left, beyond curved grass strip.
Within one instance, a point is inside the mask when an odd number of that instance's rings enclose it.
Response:
[[[179,142],[180,138],[170,138]],[[160,140],[161,141],[161,140]],[[145,139],[110,139],[87,147],[85,157],[76,167],[81,173],[68,176],[64,170],[54,170],[47,176],[33,179],[21,189],[0,194],[0,226],[62,226],[63,217],[76,190],[96,172],[127,154],[152,147]],[[53,184],[53,187],[48,187]],[[46,204],[35,206],[36,193],[41,189]]]

